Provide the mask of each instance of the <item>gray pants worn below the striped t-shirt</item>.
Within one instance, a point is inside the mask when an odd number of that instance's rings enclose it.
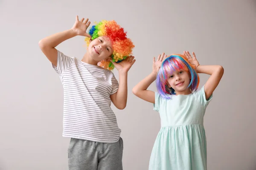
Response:
[[[69,170],[122,170],[123,141],[99,143],[70,139],[68,148]]]

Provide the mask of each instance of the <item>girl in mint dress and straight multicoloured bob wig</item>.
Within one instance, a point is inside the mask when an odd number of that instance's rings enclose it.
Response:
[[[211,75],[201,90],[198,73]],[[161,129],[155,140],[149,170],[207,170],[204,113],[224,69],[220,65],[199,65],[193,52],[183,55],[164,53],[153,70],[134,88],[133,93],[154,104],[160,113]],[[147,90],[156,79],[157,92]]]

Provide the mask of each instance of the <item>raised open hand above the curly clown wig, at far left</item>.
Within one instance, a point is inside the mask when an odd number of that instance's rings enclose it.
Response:
[[[89,26],[90,26],[90,21],[88,21],[88,18],[86,20],[84,20],[84,18],[79,20],[78,16],[76,15],[76,22],[74,23],[71,29],[76,33],[76,35],[81,35],[81,36],[91,38],[90,34],[86,33],[86,30]]]

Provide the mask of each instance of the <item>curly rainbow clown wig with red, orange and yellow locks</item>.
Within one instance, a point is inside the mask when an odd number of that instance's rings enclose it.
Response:
[[[92,36],[92,40],[101,36],[106,36],[111,40],[113,45],[113,54],[111,56],[113,62],[121,62],[132,54],[132,49],[134,48],[133,42],[126,37],[124,28],[121,28],[114,20],[102,20],[96,23],[95,26],[90,28],[89,34]],[[85,41],[88,46],[90,44],[90,38],[86,37]],[[109,70],[113,70],[114,68],[114,65],[110,61],[106,62],[102,60],[98,65]]]

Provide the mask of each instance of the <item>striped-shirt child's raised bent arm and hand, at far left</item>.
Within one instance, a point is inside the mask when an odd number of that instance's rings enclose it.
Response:
[[[77,35],[91,37],[86,33],[86,29],[90,25],[90,21],[88,22],[88,19],[86,19],[84,22],[83,21],[84,18],[79,21],[78,16],[76,16],[76,22],[71,29],[53,34],[39,41],[41,51],[49,59],[49,61],[52,62],[53,65],[57,66],[57,50],[55,47],[61,42]]]

